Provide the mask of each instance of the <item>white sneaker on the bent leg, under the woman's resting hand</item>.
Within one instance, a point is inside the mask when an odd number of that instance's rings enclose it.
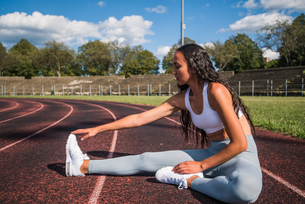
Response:
[[[194,173],[194,174],[178,174],[171,171],[173,168],[174,167],[172,166],[167,166],[167,167],[163,167],[162,169],[159,169],[156,172],[156,179],[162,183],[176,184],[178,185],[179,189],[182,189],[182,188],[188,188],[188,184],[186,182],[188,178],[195,175],[203,178],[202,172]]]

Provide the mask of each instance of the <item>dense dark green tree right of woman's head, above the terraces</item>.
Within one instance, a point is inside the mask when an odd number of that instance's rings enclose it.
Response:
[[[229,38],[236,45],[239,55],[234,57],[224,70],[234,70],[239,73],[246,69],[260,69],[264,67],[263,51],[257,43],[246,34],[237,34]]]

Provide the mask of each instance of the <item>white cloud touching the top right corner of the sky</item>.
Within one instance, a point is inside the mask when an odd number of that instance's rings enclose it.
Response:
[[[265,10],[282,10],[293,9],[297,11],[305,11],[304,0],[260,0]]]

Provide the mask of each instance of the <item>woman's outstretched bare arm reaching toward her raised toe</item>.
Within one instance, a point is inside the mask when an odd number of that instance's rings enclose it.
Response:
[[[178,94],[167,99],[160,106],[147,110],[143,113],[129,115],[112,123],[100,125],[94,128],[78,129],[71,133],[82,134],[80,137],[82,137],[81,140],[84,140],[88,137],[96,135],[99,132],[135,128],[144,124],[151,123],[180,109],[183,109],[185,107],[184,95],[184,91],[179,92]]]

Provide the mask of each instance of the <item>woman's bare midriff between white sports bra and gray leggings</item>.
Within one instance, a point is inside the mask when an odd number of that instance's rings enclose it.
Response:
[[[239,118],[239,122],[242,125],[245,135],[252,135],[250,125],[245,115],[242,115],[242,117]],[[229,138],[224,128],[217,130],[216,132],[206,133],[206,136],[210,139],[210,141],[218,141]]]

